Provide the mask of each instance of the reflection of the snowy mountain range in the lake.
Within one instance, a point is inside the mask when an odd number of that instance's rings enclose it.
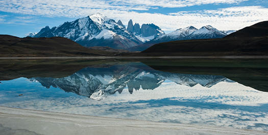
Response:
[[[154,70],[141,63],[112,65],[108,67],[86,67],[72,75],[62,78],[35,77],[46,88],[60,88],[66,92],[101,100],[125,88],[132,94],[133,90],[154,90],[165,80],[179,85],[193,87],[197,84],[211,87],[219,82],[233,82],[220,75],[194,75],[169,73]]]

